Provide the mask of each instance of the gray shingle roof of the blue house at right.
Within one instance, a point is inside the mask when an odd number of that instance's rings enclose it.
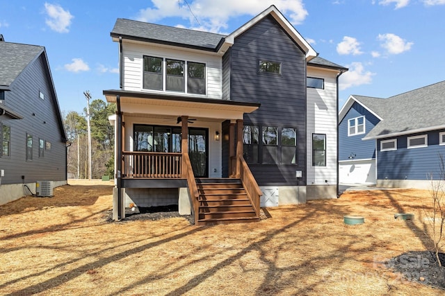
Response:
[[[368,139],[445,126],[445,81],[387,99],[368,98],[364,104],[383,119],[366,135]]]

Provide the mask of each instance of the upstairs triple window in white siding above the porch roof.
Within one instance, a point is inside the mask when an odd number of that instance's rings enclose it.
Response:
[[[144,56],[143,88],[206,94],[206,64]]]

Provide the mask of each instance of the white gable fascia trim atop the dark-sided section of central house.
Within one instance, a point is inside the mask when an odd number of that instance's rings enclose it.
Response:
[[[238,35],[241,35],[245,31],[247,31],[249,28],[254,26],[254,24],[257,24],[258,21],[266,17],[266,15],[272,15],[276,21],[284,28],[284,31],[289,34],[289,36],[292,37],[292,39],[302,48],[303,51],[306,53],[306,60],[312,60],[315,58],[318,53],[312,48],[312,46],[305,40],[305,38],[296,31],[296,28],[293,28],[291,23],[282,15],[282,13],[277,10],[275,6],[270,6],[263,12],[261,12],[259,15],[245,23],[243,26],[238,28],[236,31],[234,31],[229,36],[225,37],[225,43],[229,44],[229,46],[232,46],[235,42],[235,38],[238,37]],[[225,48],[227,46],[222,46],[222,48]]]

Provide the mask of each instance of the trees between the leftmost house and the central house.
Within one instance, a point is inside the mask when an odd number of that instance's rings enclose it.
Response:
[[[90,102],[91,126],[91,177],[114,177],[114,128],[108,116],[115,114],[115,104],[100,99]],[[86,107],[83,113],[70,111],[64,114],[65,131],[70,146],[67,150],[68,178],[88,178],[88,130]]]

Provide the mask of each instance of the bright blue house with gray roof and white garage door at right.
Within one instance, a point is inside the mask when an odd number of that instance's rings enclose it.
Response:
[[[445,81],[390,98],[350,96],[339,112],[342,184],[428,189],[445,156]]]

